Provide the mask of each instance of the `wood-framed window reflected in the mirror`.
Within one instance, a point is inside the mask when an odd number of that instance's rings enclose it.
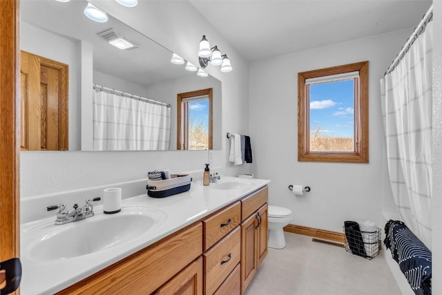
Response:
[[[177,95],[177,149],[213,149],[212,88]]]

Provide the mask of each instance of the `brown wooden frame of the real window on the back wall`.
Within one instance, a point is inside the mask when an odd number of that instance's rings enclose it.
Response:
[[[309,95],[305,80],[355,71],[359,72],[359,85],[355,85],[358,93],[354,102],[354,152],[310,152]],[[368,154],[368,61],[298,73],[298,162],[368,163]]]

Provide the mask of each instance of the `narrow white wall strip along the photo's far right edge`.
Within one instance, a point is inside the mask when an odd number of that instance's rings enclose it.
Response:
[[[442,294],[442,1],[433,1],[432,294]]]

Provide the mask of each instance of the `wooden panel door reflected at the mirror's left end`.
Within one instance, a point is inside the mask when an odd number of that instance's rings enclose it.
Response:
[[[68,149],[68,65],[21,51],[21,150]]]

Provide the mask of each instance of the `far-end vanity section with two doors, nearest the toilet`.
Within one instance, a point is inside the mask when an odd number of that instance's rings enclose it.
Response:
[[[247,289],[262,260],[267,256],[269,218],[267,200],[268,189],[265,187],[241,201],[243,214],[241,223],[242,292]]]

